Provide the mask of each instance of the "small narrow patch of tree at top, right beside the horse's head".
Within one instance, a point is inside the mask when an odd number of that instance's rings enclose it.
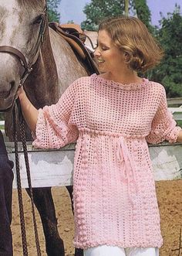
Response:
[[[49,22],[59,22],[60,13],[57,8],[61,0],[47,0],[48,19]]]

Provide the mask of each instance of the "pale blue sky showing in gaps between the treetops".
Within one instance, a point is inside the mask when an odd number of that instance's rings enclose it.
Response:
[[[73,21],[80,24],[83,20],[86,20],[83,8],[90,2],[90,0],[61,0],[58,9],[61,14],[60,23]],[[162,12],[164,17],[167,17],[167,12],[173,12],[175,3],[180,5],[180,10],[182,12],[182,0],[147,0],[147,5],[151,12],[152,24],[156,26],[158,25],[160,12]]]

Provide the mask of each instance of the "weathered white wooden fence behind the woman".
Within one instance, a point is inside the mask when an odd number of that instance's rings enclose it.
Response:
[[[176,120],[182,120],[182,106],[169,109]],[[0,125],[3,124],[4,121],[0,121]],[[38,150],[32,148],[31,142],[27,143],[27,147],[33,187],[72,185],[74,144],[66,145],[59,150]],[[14,143],[6,142],[6,148],[9,158],[15,162]],[[164,142],[159,145],[150,145],[149,150],[155,180],[182,179],[182,144],[171,145]],[[21,144],[19,144],[19,161],[22,187],[25,188],[28,187],[28,183]],[[16,179],[14,179],[13,187],[16,188],[16,186]]]

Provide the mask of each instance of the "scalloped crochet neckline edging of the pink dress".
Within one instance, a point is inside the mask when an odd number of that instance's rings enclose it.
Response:
[[[107,80],[106,78],[101,77],[96,73],[93,73],[90,77],[98,81],[99,84],[103,84],[103,86],[112,86],[112,87],[121,88],[123,90],[140,90],[141,88],[146,87],[147,84],[149,83],[149,80],[147,78],[142,78],[141,82],[122,84],[119,82],[115,82],[113,80]]]

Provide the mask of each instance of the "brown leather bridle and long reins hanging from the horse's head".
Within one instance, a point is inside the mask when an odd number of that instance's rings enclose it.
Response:
[[[44,41],[44,33],[45,33],[45,27],[47,22],[47,9],[45,7],[44,9],[44,16],[42,18],[40,30],[39,30],[39,36],[37,39],[37,42],[35,44],[35,47],[33,49],[32,57],[29,60],[29,63],[27,62],[25,56],[19,49],[15,49],[12,46],[0,46],[0,53],[10,53],[14,56],[16,56],[22,67],[24,67],[24,72],[22,73],[22,77],[19,81],[19,87],[22,87],[23,84],[25,84],[25,80],[27,77],[29,77],[29,74],[32,72],[32,66],[35,64],[39,52],[41,49],[41,45]],[[17,90],[19,90],[19,87]],[[13,107],[13,128],[14,128],[14,142],[15,142],[15,166],[16,166],[16,174],[17,174],[17,186],[18,186],[18,197],[19,197],[19,213],[20,213],[20,223],[21,223],[21,231],[22,231],[22,248],[23,248],[23,255],[28,256],[28,249],[27,249],[27,241],[26,241],[26,232],[25,232],[25,218],[24,218],[24,210],[23,210],[23,203],[22,203],[22,186],[21,186],[21,179],[20,179],[20,167],[19,167],[19,150],[18,150],[18,136],[17,136],[17,123],[19,121],[20,124],[20,131],[21,131],[21,139],[22,139],[22,146],[23,146],[23,152],[24,152],[24,158],[25,158],[25,166],[26,166],[26,172],[27,172],[27,179],[29,183],[29,191],[30,191],[30,199],[32,204],[32,217],[33,217],[33,224],[34,224],[34,231],[35,231],[35,244],[37,249],[37,255],[41,256],[40,246],[39,246],[39,236],[38,236],[38,230],[37,230],[37,224],[35,220],[35,207],[33,203],[33,192],[32,192],[32,183],[31,183],[31,176],[30,176],[30,169],[29,169],[29,157],[26,147],[26,140],[25,140],[25,121],[22,117],[22,110],[19,103],[19,99],[16,100],[17,107],[19,109],[19,119],[17,118],[17,113],[15,111],[15,104]]]

